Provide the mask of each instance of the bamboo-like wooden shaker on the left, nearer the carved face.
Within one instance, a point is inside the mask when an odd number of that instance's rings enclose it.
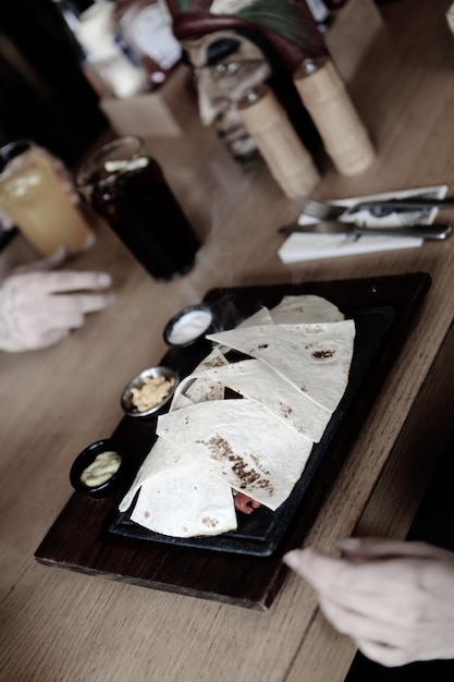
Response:
[[[237,105],[272,176],[290,198],[309,194],[320,180],[285,110],[266,85],[250,90]]]

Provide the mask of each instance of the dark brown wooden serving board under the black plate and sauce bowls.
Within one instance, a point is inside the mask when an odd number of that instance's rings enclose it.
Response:
[[[110,526],[118,504],[148,454],[155,439],[156,421],[124,417],[112,438],[127,452],[128,471],[119,491],[95,500],[74,492],[35,552],[46,565],[78,571],[89,575],[132,583],[154,589],[213,599],[247,608],[267,610],[289,571],[282,556],[298,547],[307,535],[361,422],[373,402],[379,386],[396,360],[400,345],[410,332],[420,304],[430,287],[425,272],[365,278],[218,289],[208,292],[204,303],[210,305],[221,326],[229,328],[251,315],[260,305],[272,307],[286,294],[316,294],[341,310],[392,307],[395,315],[385,341],[368,367],[354,404],[343,415],[335,438],[317,468],[296,513],[271,556],[251,556],[241,551],[212,551],[204,547],[185,547],[172,541],[112,534]],[[182,376],[207,354],[207,348],[171,350],[162,364],[179,367]]]

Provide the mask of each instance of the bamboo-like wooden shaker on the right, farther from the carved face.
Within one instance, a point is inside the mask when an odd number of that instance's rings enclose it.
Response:
[[[356,175],[369,168],[373,147],[331,59],[305,59],[293,80],[338,171]]]

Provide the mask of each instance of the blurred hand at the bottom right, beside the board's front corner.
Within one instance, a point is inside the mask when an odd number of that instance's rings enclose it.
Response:
[[[454,555],[425,543],[346,538],[342,559],[316,548],[284,561],[318,593],[341,633],[383,666],[454,658]]]

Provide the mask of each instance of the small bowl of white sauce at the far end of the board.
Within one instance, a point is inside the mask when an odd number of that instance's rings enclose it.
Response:
[[[163,337],[168,345],[186,348],[216,331],[213,313],[207,305],[188,305],[165,325]]]

